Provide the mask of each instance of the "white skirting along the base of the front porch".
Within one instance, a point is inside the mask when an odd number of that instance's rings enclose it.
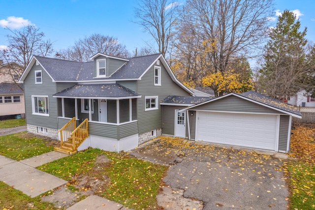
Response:
[[[89,136],[78,147],[78,151],[87,149],[88,147],[99,148],[105,151],[120,152],[128,151],[138,146],[139,135],[133,135],[121,140],[107,139],[97,136]]]

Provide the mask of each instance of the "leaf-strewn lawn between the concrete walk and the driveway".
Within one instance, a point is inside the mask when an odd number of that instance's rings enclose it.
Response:
[[[112,161],[98,167],[95,160],[99,155],[105,155]],[[78,175],[85,174],[95,179],[106,176],[109,181],[98,191],[98,195],[128,208],[142,210],[158,207],[156,196],[168,168],[129,157],[127,153],[88,149],[39,166],[38,169],[68,180],[73,185]]]

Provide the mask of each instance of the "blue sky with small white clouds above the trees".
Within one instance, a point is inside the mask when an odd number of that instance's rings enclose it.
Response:
[[[183,2],[181,0],[180,2]],[[54,41],[54,49],[65,49],[75,40],[99,33],[113,35],[129,51],[145,45],[150,35],[133,22],[136,0],[2,0],[0,4],[0,48],[8,30],[32,23]],[[275,0],[274,17],[284,9],[295,10],[307,38],[315,42],[315,0]],[[13,16],[13,17],[12,17]],[[276,20],[274,21],[276,23]],[[23,25],[23,24],[22,24]]]

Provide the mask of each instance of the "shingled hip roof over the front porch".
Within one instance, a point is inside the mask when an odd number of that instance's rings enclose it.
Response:
[[[74,85],[53,95],[56,98],[139,98],[139,94],[134,91],[113,83],[113,84],[91,84]]]

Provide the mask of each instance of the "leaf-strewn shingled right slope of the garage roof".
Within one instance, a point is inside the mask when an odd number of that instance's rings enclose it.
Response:
[[[257,93],[255,91],[250,90],[250,91],[247,91],[247,92],[239,94],[239,95],[244,96],[244,97],[249,98],[249,99],[252,99],[256,102],[270,105],[272,107],[279,108],[281,110],[302,116],[301,112],[299,111],[299,109],[296,106],[289,105],[287,103],[279,101],[278,99],[271,98],[271,97],[263,95],[261,93]]]

